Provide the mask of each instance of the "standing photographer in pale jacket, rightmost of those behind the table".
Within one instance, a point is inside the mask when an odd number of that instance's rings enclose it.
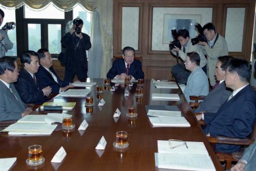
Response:
[[[215,66],[218,61],[218,57],[228,55],[227,42],[224,37],[215,32],[215,26],[211,22],[206,23],[202,30],[208,40],[208,43],[199,41],[198,44],[201,45],[200,47],[203,53],[207,55],[210,85],[214,86],[216,84]]]

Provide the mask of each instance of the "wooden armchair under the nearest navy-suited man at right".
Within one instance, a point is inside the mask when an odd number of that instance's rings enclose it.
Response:
[[[197,115],[199,113],[195,113],[195,114]],[[199,120],[199,124],[202,127],[204,127],[203,120]],[[230,144],[230,145],[243,145],[246,147],[252,144],[255,138],[256,138],[256,122],[254,123],[251,134],[245,139],[231,138],[231,137],[224,137],[224,136],[207,137],[208,141],[212,144],[213,148],[215,148],[216,143]],[[245,150],[244,148],[241,148],[239,152],[233,152],[232,154],[217,152],[216,155],[220,162],[225,162],[225,170],[228,170],[231,168],[232,162],[237,162],[238,160],[240,160],[244,150]]]

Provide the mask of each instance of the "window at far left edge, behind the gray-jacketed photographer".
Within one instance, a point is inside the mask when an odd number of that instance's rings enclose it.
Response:
[[[2,23],[1,28],[5,25],[6,22],[16,22],[15,19],[15,9],[13,10],[7,10],[2,8],[2,10],[5,12],[4,21]],[[16,28],[14,30],[8,30],[8,36],[9,39],[13,43],[13,47],[11,50],[8,50],[8,52],[5,54],[6,56],[17,56],[17,41],[16,41]]]

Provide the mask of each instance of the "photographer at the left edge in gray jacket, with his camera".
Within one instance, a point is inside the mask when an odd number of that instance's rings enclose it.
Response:
[[[4,21],[5,13],[3,10],[0,9],[0,26]],[[14,29],[15,23],[14,22],[7,22],[6,25],[0,29],[0,58],[5,56],[5,53],[8,50],[11,50],[13,47],[13,43],[8,37],[7,30]]]

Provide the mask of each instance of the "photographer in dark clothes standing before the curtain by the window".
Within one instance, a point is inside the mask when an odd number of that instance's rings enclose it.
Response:
[[[74,75],[79,81],[87,79],[88,61],[86,51],[91,48],[90,36],[82,33],[83,21],[77,17],[73,20],[70,32],[61,38],[61,45],[66,48],[64,58],[65,77],[64,81],[73,82]]]

